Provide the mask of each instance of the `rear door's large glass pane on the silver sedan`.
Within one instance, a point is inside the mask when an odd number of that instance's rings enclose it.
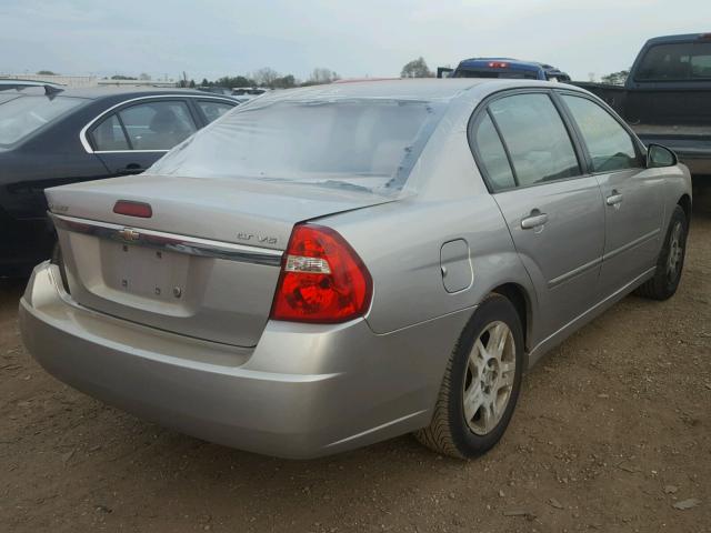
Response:
[[[489,105],[511,157],[518,185],[581,174],[568,130],[548,94],[514,94]]]

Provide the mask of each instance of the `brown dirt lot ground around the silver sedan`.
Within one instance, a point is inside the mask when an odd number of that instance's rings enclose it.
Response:
[[[290,462],[166,431],[48,376],[22,283],[0,281],[0,531],[710,532],[709,197],[677,296],[630,296],[554,350],[471,462],[410,436]]]

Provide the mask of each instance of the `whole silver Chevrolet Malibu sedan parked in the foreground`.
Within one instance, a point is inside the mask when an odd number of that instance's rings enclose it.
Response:
[[[522,373],[680,281],[685,167],[574,87],[342,83],[262,97],[140,177],[49,189],[20,302],[59,380],[287,457],[414,432],[491,449]]]

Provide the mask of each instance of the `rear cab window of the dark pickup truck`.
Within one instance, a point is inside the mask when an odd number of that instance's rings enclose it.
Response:
[[[640,63],[635,80],[711,80],[711,42],[683,42],[651,47]]]

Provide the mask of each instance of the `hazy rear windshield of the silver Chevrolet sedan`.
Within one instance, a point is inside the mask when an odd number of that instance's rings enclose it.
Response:
[[[442,107],[374,98],[254,101],[177,147],[151,173],[399,189]]]

